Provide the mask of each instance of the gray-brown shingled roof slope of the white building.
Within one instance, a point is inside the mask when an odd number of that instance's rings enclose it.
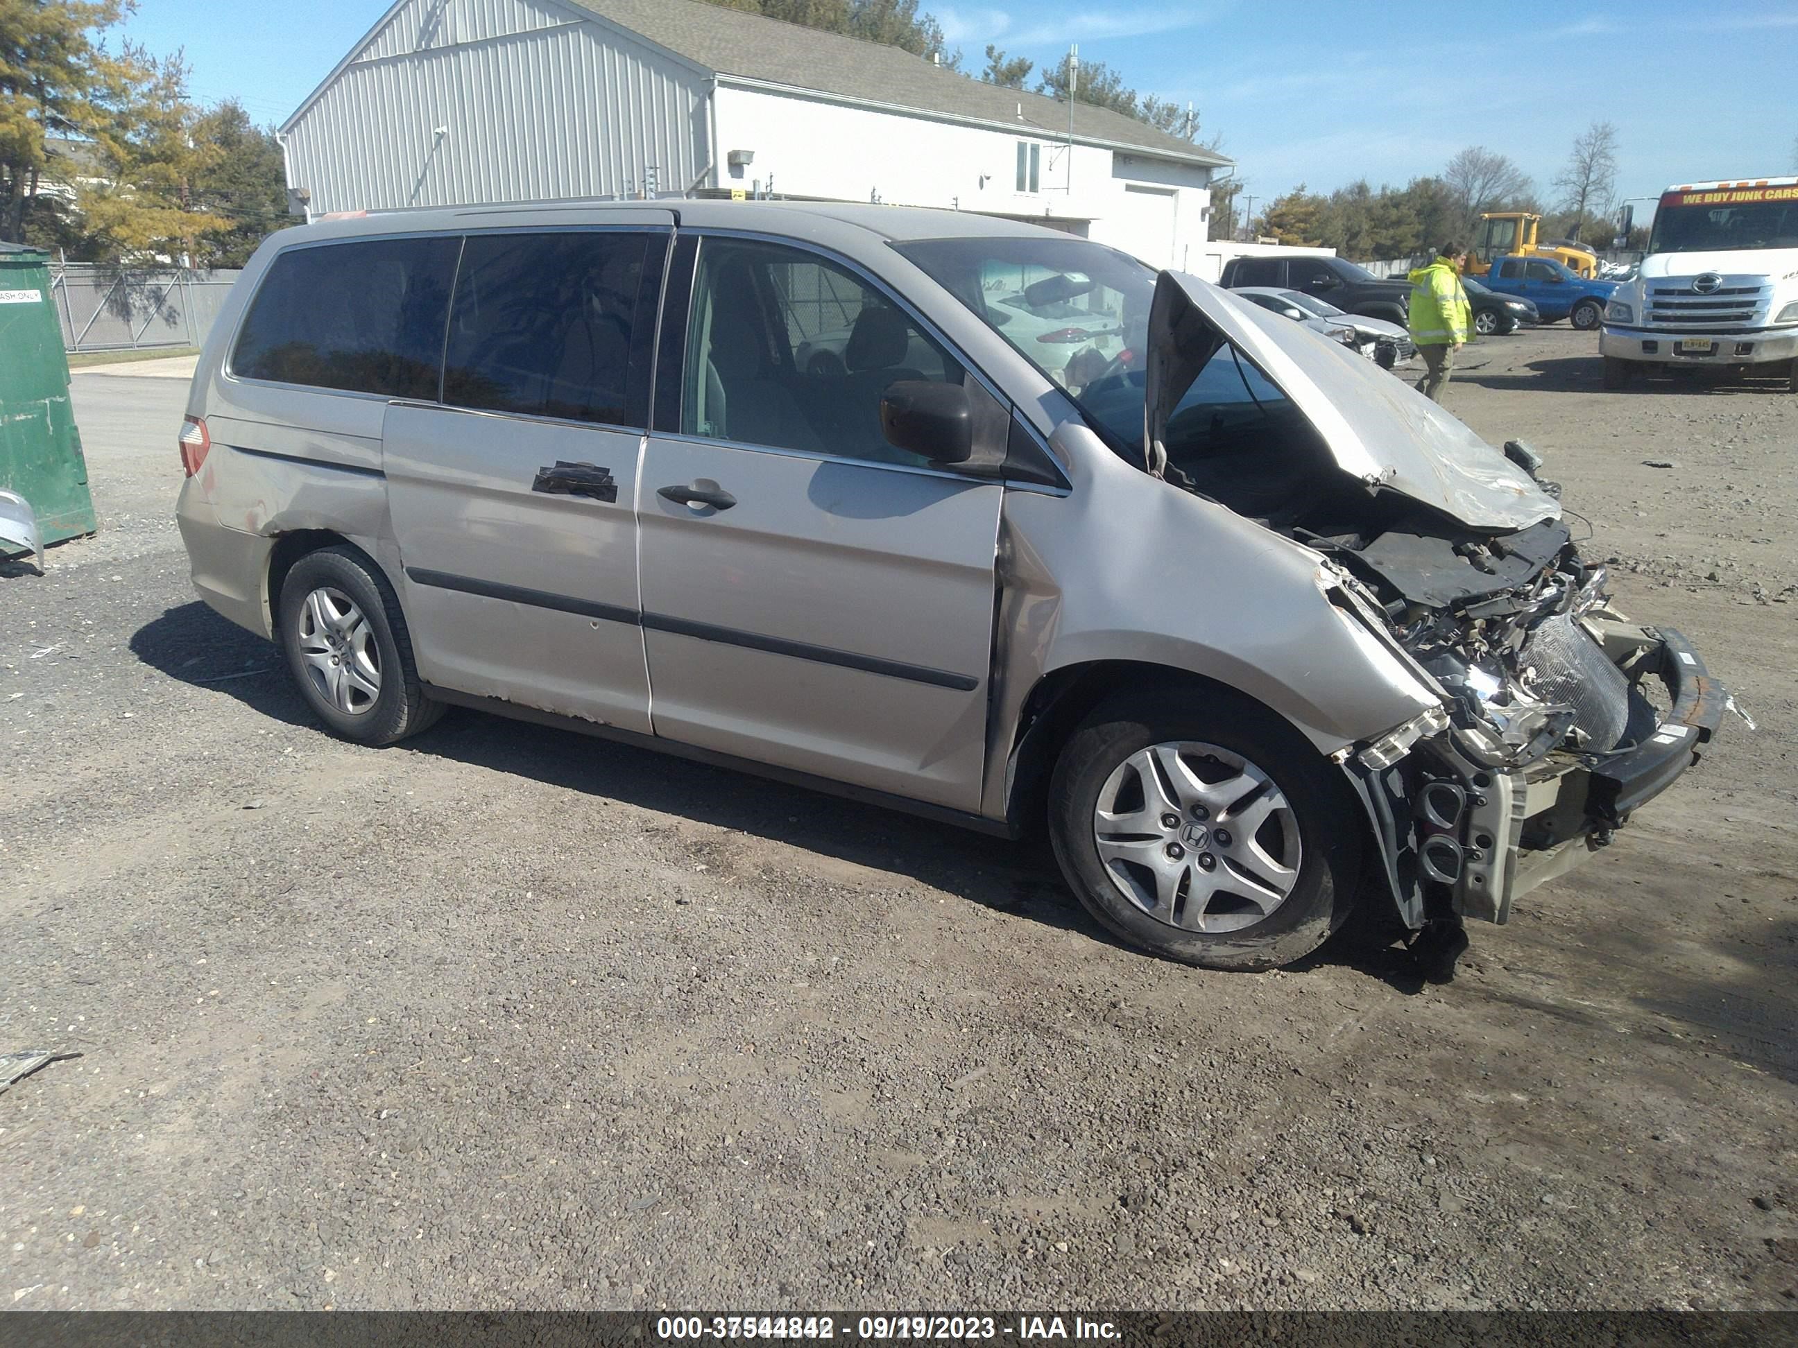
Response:
[[[1046,137],[1068,133],[1068,104],[1043,93],[984,84],[899,47],[820,32],[703,0],[570,2],[721,75],[917,108],[942,117],[1027,126]],[[1131,146],[1158,158],[1212,165],[1232,162],[1156,131],[1135,117],[1086,102],[1073,106],[1073,138]]]

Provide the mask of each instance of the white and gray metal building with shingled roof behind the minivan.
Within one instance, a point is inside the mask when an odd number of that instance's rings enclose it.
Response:
[[[699,0],[399,0],[280,140],[309,214],[744,191],[1037,219],[1194,270],[1230,164]]]

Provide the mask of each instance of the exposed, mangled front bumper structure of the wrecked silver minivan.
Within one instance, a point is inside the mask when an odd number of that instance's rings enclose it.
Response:
[[[1381,841],[1399,917],[1413,931],[1449,915],[1509,920],[1516,899],[1607,847],[1715,735],[1728,692],[1685,636],[1615,615],[1588,618],[1586,627],[1633,685],[1652,679],[1670,703],[1618,749],[1555,751],[1501,771],[1442,735],[1390,767],[1345,762]]]

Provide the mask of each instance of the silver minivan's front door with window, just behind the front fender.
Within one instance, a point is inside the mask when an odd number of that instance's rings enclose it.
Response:
[[[638,487],[656,733],[976,809],[1003,487],[879,428],[894,381],[969,376],[863,275],[771,243],[701,239],[680,318]]]

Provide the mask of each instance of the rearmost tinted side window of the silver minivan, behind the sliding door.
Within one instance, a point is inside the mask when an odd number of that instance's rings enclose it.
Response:
[[[437,397],[460,235],[280,253],[250,302],[232,374],[387,397]]]

